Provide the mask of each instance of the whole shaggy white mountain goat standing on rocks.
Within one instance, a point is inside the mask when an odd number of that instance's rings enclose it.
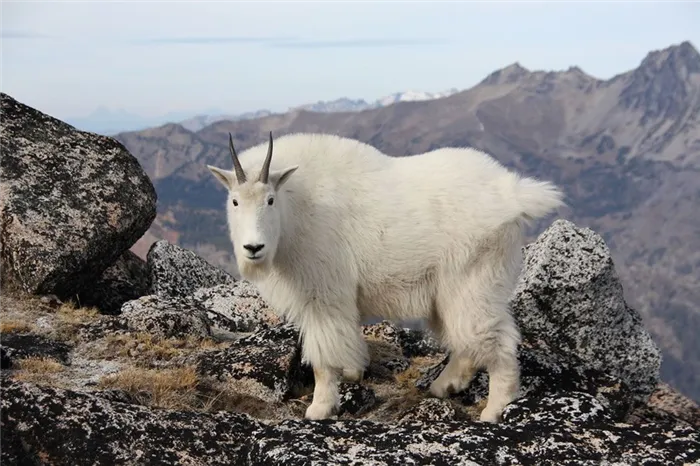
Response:
[[[450,351],[436,397],[489,374],[481,420],[498,422],[519,391],[520,331],[509,300],[527,221],[563,205],[549,182],[520,177],[487,154],[444,148],[390,157],[328,134],[291,134],[208,165],[228,189],[241,277],[298,326],[313,367],[307,419],[339,407],[341,377],[369,363],[360,322],[425,319]]]

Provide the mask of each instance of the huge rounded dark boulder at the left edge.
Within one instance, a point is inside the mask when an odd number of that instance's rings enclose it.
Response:
[[[155,216],[155,189],[121,143],[0,93],[0,262],[12,282],[72,296]]]

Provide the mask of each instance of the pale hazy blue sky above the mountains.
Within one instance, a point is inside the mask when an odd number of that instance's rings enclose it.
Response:
[[[700,47],[700,3],[8,1],[0,89],[59,118],[241,113],[473,86],[515,61],[599,78]]]

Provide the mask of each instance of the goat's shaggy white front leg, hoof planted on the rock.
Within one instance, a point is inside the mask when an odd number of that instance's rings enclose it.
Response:
[[[303,356],[313,367],[315,382],[306,419],[326,419],[336,414],[341,376],[359,379],[369,363],[367,344],[355,316],[333,307],[326,311],[309,318],[302,329]]]

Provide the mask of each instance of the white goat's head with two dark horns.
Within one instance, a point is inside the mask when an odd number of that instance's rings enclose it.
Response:
[[[272,132],[267,157],[257,177],[249,177],[233,148],[229,133],[229,150],[233,171],[207,165],[214,176],[228,189],[228,222],[234,251],[241,273],[258,265],[269,263],[277,251],[286,207],[282,185],[298,168],[297,165],[279,171],[270,171],[272,160]]]

